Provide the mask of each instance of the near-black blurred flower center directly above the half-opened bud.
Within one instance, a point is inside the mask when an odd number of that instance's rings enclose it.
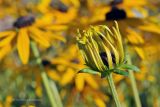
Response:
[[[123,9],[112,7],[112,10],[106,14],[106,20],[122,20],[127,18],[127,14]]]

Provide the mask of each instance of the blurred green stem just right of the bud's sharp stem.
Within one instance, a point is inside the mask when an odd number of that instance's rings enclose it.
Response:
[[[132,64],[131,58],[130,58],[129,55],[127,55],[127,63]],[[138,93],[138,89],[137,89],[137,85],[136,85],[136,80],[135,80],[135,77],[134,77],[134,74],[133,74],[132,70],[129,70],[129,78],[130,78],[130,81],[131,81],[131,87],[132,87],[132,90],[133,90],[133,95],[134,95],[134,100],[135,100],[136,106],[141,107],[141,101],[140,101],[140,98],[139,98],[139,93]]]

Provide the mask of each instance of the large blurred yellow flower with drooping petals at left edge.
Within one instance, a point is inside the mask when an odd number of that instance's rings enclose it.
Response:
[[[35,19],[33,16],[19,17],[13,23],[13,29],[0,32],[0,47],[3,48],[9,44],[12,44],[12,46],[16,45],[22,63],[27,64],[30,56],[31,40],[45,48],[48,48],[54,39],[64,40],[62,36],[52,33],[55,26],[52,26],[52,22],[47,26],[49,23],[47,21],[44,21],[43,18]]]

